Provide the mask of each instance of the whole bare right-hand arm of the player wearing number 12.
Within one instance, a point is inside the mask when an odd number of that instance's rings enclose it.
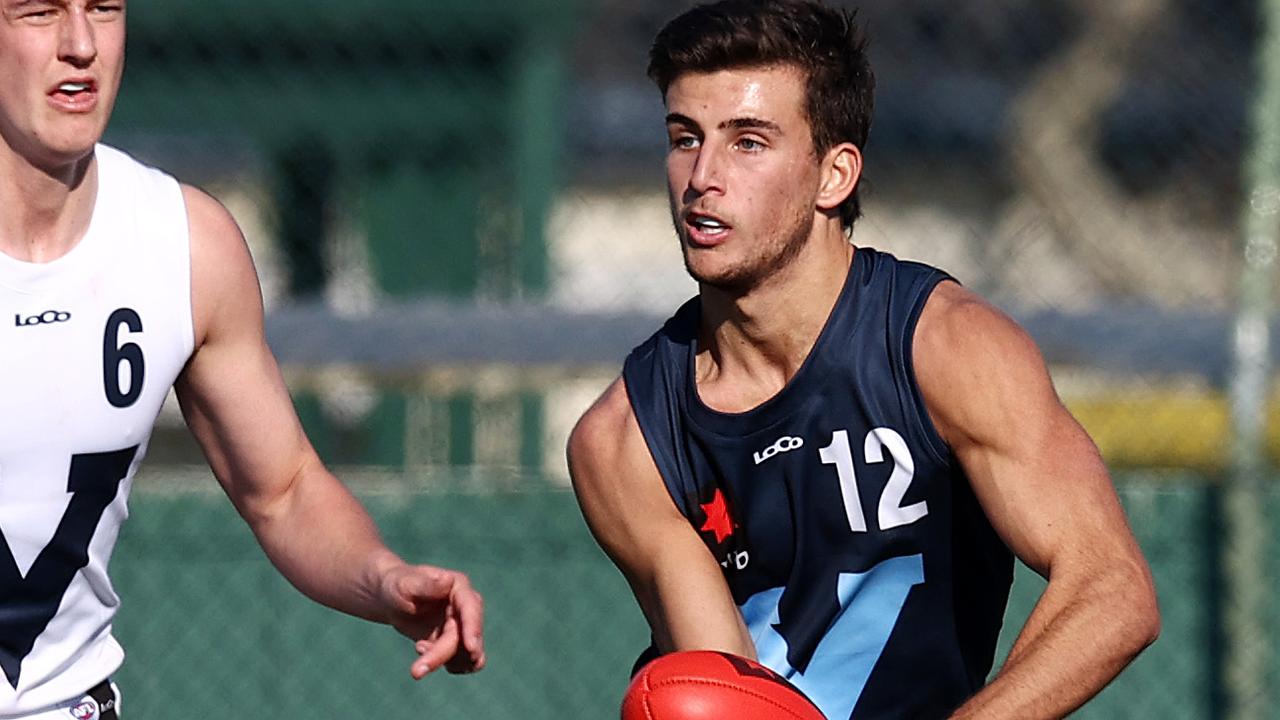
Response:
[[[929,414],[1005,543],[1048,580],[1009,659],[955,717],[1061,717],[1160,630],[1151,570],[1097,447],[1011,319],[955,283],[913,351]]]

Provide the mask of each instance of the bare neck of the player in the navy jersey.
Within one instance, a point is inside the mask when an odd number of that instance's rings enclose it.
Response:
[[[815,227],[787,266],[750,290],[728,293],[701,286],[698,380],[703,400],[742,411],[781,391],[817,343],[852,256],[854,246],[838,224]],[[733,397],[717,401],[716,386],[736,388]],[[742,388],[753,389],[744,395]]]

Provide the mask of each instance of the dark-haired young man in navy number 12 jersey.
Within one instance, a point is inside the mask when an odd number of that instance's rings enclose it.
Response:
[[[852,15],[699,6],[649,74],[699,293],[568,457],[650,653],[756,657],[832,720],[1080,706],[1156,637],[1151,575],[1027,334],[850,243],[874,85]],[[1048,587],[984,685],[1010,551]]]

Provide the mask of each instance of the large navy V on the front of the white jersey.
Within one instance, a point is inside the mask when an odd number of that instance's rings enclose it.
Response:
[[[27,575],[0,532],[0,669],[14,689],[22,660],[58,614],[76,573],[88,565],[88,543],[106,506],[115,500],[138,446],[111,452],[73,455],[67,475],[72,500],[52,539],[40,551]]]

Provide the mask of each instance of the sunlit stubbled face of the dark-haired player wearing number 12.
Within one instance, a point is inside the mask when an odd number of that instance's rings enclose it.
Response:
[[[667,90],[667,187],[685,266],[742,291],[808,241],[819,164],[788,65],[686,73]]]

